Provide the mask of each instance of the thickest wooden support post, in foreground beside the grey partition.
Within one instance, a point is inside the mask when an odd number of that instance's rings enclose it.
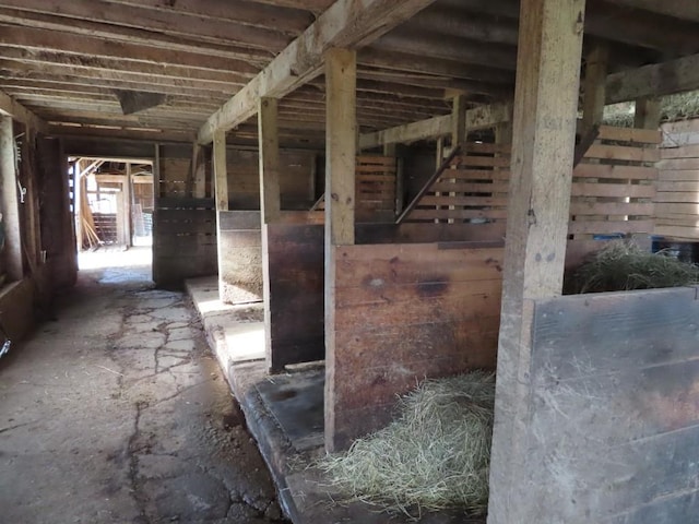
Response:
[[[498,348],[489,524],[534,522],[526,498],[532,299],[562,289],[584,0],[522,0]]]

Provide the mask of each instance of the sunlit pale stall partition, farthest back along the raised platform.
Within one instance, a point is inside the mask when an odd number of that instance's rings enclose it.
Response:
[[[262,300],[262,234],[259,211],[220,211],[218,272],[221,297],[227,303]],[[214,272],[215,273],[215,272]]]

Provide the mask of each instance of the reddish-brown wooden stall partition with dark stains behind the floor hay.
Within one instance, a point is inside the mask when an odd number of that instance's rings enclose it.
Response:
[[[336,448],[386,425],[395,396],[418,380],[495,367],[501,248],[350,246],[331,255],[337,308],[325,402]]]

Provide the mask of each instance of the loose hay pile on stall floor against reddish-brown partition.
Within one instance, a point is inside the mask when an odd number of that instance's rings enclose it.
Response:
[[[401,398],[399,419],[318,465],[350,498],[389,512],[484,513],[494,403],[494,373],[425,380]]]

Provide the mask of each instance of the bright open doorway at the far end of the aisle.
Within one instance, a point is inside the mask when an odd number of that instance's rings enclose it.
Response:
[[[72,156],[69,174],[79,267],[139,266],[151,279],[153,160]]]

